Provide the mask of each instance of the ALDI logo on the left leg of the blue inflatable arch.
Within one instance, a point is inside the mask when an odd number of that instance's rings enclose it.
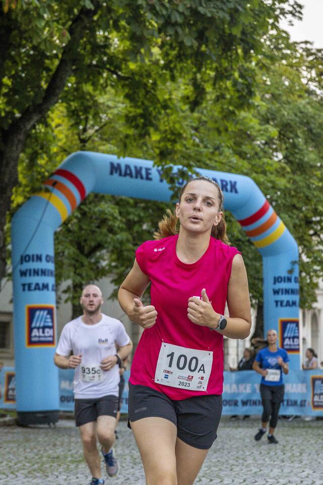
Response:
[[[55,345],[55,307],[26,305],[26,347]]]

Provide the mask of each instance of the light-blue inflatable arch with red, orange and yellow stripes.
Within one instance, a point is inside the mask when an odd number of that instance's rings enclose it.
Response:
[[[176,167],[174,167],[176,171]],[[265,332],[299,369],[298,248],[255,182],[246,176],[197,169],[216,180],[263,260]],[[114,155],[70,155],[12,220],[17,412],[21,424],[56,422],[59,410],[53,235],[90,192],[170,201],[172,192],[153,162]]]

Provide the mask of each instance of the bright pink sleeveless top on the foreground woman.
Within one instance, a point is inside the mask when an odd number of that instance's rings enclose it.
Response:
[[[150,278],[151,305],[158,315],[156,323],[145,329],[140,337],[129,381],[134,385],[152,387],[174,400],[205,395],[205,392],[219,395],[223,391],[223,336],[189,320],[188,299],[200,296],[202,288],[205,288],[213,309],[223,315],[232,260],[240,253],[236,248],[210,237],[203,256],[193,264],[185,264],[176,254],[177,239],[175,235],[146,241],[136,251],[141,271]],[[204,391],[178,389],[155,382],[157,360],[163,343],[213,353],[208,384]],[[184,358],[180,360],[180,368],[182,364],[185,364]],[[195,368],[194,360],[193,364]],[[190,372],[185,376],[189,379]],[[203,383],[202,380],[199,382]],[[183,385],[189,383],[183,382]]]

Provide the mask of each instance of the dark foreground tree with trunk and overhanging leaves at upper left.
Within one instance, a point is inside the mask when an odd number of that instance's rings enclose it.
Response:
[[[0,280],[18,161],[31,132],[57,103],[81,104],[78,87],[85,82],[93,90],[122,90],[132,107],[125,118],[128,129],[143,138],[172,101],[159,99],[160,85],[186,73],[193,88],[187,100],[191,109],[203,99],[204,73],[210,66],[216,86],[232,77],[251,86],[250,71],[237,66],[262,50],[261,38],[281,16],[299,12],[293,0],[3,0]],[[169,152],[161,151],[160,160],[169,163]]]

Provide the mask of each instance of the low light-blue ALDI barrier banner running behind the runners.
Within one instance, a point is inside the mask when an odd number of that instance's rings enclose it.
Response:
[[[128,412],[128,379],[121,399],[121,412]],[[60,410],[74,411],[73,369],[60,369]],[[261,415],[261,376],[252,370],[225,372],[223,392],[223,415]],[[285,396],[280,408],[281,415],[323,416],[323,370],[290,370],[284,376]],[[14,367],[0,371],[0,408],[16,408],[16,381]]]

